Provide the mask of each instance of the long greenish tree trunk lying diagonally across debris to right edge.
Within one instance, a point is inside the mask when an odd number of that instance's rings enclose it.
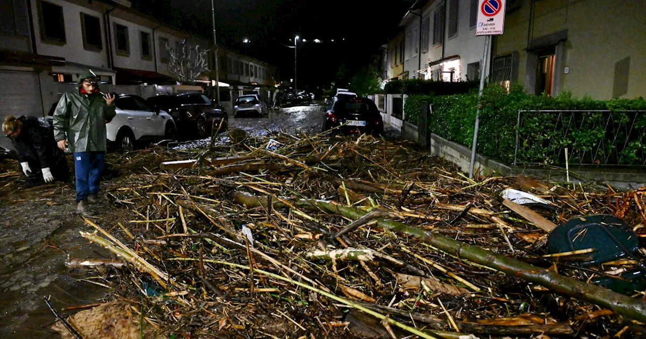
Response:
[[[267,203],[267,198],[265,197],[253,196],[252,194],[243,192],[236,192],[234,194],[234,200],[248,207],[266,205]],[[323,209],[324,211],[329,211],[351,219],[359,219],[366,214],[365,211],[340,205],[334,201],[293,200],[291,203],[304,209]],[[554,271],[547,271],[541,267],[536,267],[514,258],[507,258],[506,256],[487,251],[481,247],[453,240],[441,234],[406,225],[405,223],[391,220],[378,220],[377,225],[383,229],[397,232],[402,236],[412,236],[419,241],[433,245],[444,252],[469,260],[470,262],[491,267],[509,276],[542,285],[556,293],[595,303],[601,307],[612,309],[612,311],[628,318],[646,322],[646,302],[640,299],[630,298],[624,294],[616,293],[597,285],[580,282],[579,280],[557,274]]]

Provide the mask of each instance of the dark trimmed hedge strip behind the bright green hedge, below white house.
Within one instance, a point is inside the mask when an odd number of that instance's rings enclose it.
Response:
[[[468,93],[477,88],[477,81],[434,81],[424,79],[393,80],[386,83],[384,92],[386,94],[417,94],[449,96],[452,94]]]

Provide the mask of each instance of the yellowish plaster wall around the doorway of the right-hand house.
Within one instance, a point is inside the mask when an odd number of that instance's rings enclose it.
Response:
[[[532,74],[536,71],[532,56],[525,50],[528,41],[567,30],[563,52],[557,55],[555,88],[578,98],[612,99],[613,92],[620,98],[646,96],[646,78],[641,76],[646,72],[643,1],[620,1],[612,6],[603,0],[534,1],[530,30],[531,3],[523,1],[521,8],[507,15],[505,34],[497,37],[495,44],[499,56],[519,52],[521,83],[534,87]]]

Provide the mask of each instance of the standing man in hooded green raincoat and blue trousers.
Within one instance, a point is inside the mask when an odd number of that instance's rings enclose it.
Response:
[[[99,77],[88,70],[79,74],[75,90],[63,94],[54,111],[54,138],[58,148],[74,154],[77,211],[91,214],[105,163],[105,124],[116,115],[115,97],[99,91]]]

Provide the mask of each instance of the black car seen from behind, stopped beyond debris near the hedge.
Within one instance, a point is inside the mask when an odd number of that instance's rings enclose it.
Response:
[[[323,130],[344,125],[337,130],[341,133],[372,134],[379,136],[384,132],[384,122],[375,102],[366,98],[335,97],[326,110]]]

